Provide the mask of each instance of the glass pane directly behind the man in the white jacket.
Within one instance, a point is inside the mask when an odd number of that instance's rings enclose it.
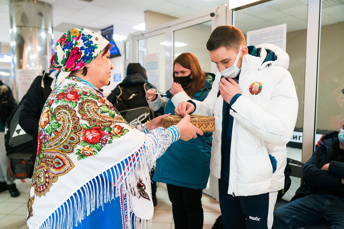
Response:
[[[293,77],[299,99],[298,118],[291,140],[287,144],[287,157],[297,161],[301,161],[302,152],[307,10],[307,0],[273,0],[237,10],[234,14],[234,25],[244,33],[246,39],[250,31],[286,24],[284,44],[290,57],[288,70]],[[276,37],[270,40],[265,38],[265,43],[272,43]]]

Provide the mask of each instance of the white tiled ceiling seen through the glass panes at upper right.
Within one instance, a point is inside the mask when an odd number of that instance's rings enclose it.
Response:
[[[275,0],[235,12],[235,26],[247,31],[287,23],[287,32],[307,28],[308,0]],[[344,0],[323,0],[321,25],[344,21]]]

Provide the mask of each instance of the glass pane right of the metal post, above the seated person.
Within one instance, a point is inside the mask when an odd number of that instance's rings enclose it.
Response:
[[[323,1],[315,144],[344,118],[344,1]]]

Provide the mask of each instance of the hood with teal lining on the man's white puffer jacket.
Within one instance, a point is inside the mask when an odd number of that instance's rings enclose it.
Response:
[[[260,70],[267,65],[277,65],[288,70],[289,55],[273,44],[248,46],[249,55],[243,57],[241,70],[246,72]]]

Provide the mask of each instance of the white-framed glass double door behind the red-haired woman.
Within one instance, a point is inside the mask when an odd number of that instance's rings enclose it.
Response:
[[[150,83],[161,92],[168,90],[173,82],[173,61],[183,52],[195,54],[203,71],[216,73],[206,50],[206,42],[216,26],[231,22],[227,18],[227,8],[222,5],[136,34],[137,47],[131,47],[137,52],[135,61],[146,68]],[[210,175],[204,193],[218,200],[217,190],[217,179]]]

